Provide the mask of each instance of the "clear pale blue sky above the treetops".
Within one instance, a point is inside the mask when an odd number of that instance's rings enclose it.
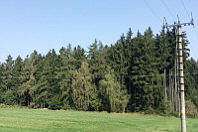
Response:
[[[185,4],[185,7],[183,4]],[[0,0],[0,62],[9,54],[22,58],[37,50],[57,52],[68,43],[87,49],[94,39],[114,44],[131,27],[134,35],[149,26],[154,34],[162,29],[163,18],[184,27],[191,57],[198,59],[197,0]]]

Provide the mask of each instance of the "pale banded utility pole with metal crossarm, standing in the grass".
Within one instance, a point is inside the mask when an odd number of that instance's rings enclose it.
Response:
[[[192,14],[191,14],[192,16]],[[183,26],[194,26],[193,18],[189,23],[181,23],[178,17],[178,21],[173,25],[166,23],[166,28],[174,27],[177,35],[177,47],[178,47],[178,61],[179,61],[179,87],[180,87],[180,118],[181,118],[181,132],[186,132],[186,114],[185,114],[185,89],[184,89],[184,66],[183,66],[183,40],[182,40],[182,27]]]

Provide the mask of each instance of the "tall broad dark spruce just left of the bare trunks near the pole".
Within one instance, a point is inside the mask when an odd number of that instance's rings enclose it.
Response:
[[[132,62],[133,110],[154,108],[155,94],[159,92],[158,70],[152,30],[148,28],[142,36],[139,32],[134,39]]]

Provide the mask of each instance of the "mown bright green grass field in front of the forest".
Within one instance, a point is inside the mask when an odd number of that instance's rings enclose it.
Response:
[[[198,119],[187,119],[188,132],[198,131]],[[141,114],[0,109],[0,132],[179,132],[180,119]]]

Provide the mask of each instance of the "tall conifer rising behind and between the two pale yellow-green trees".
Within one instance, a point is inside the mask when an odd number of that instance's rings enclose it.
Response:
[[[104,47],[102,42],[98,43],[97,40],[89,47],[88,63],[92,75],[92,84],[96,87],[98,98],[95,104],[100,111],[104,110],[103,105],[105,104],[101,104],[102,95],[99,95],[99,82],[105,78],[105,74],[108,72],[107,53],[108,47]]]

